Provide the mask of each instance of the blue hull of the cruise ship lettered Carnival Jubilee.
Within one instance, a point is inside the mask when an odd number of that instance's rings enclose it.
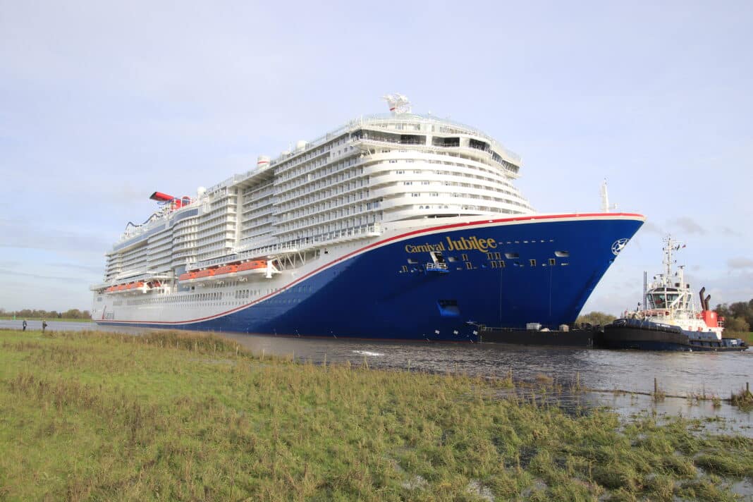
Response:
[[[479,325],[556,328],[575,321],[643,221],[637,214],[589,214],[429,227],[369,244],[212,318],[98,322],[453,342],[477,341]],[[427,269],[427,250],[441,251],[447,269]]]

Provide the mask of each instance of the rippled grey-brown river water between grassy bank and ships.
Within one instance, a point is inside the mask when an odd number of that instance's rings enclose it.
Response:
[[[20,329],[21,321],[0,321],[0,328]],[[48,330],[108,330],[142,333],[141,328],[98,327],[86,322],[47,321]],[[29,330],[41,329],[40,321],[29,321]],[[715,409],[711,401],[692,401],[686,396],[730,397],[753,380],[753,351],[745,352],[651,352],[608,351],[586,348],[525,347],[501,344],[444,344],[425,342],[374,342],[348,339],[304,339],[282,336],[218,333],[236,340],[257,354],[293,355],[298,361],[314,364],[344,363],[371,368],[423,370],[438,373],[467,373],[471,376],[498,376],[512,373],[516,381],[536,382],[541,375],[569,387],[576,378],[586,388],[605,392],[578,397],[589,406],[610,406],[629,416],[638,409],[659,415],[686,418],[724,418],[710,428],[753,436],[753,414],[740,412],[723,403]],[[651,393],[654,378],[666,400],[654,403],[651,397],[619,395],[608,391]],[[681,396],[681,397],[672,397]],[[569,399],[569,397],[565,397]]]

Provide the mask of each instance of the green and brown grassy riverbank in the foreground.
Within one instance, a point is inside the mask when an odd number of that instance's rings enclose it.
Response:
[[[0,500],[733,500],[725,476],[753,477],[749,439],[510,385],[211,335],[0,331]]]

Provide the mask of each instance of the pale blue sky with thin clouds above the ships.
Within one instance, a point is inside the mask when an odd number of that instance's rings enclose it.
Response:
[[[193,195],[403,93],[523,157],[541,212],[647,223],[584,312],[660,272],[753,298],[753,2],[0,0],[0,308],[90,309],[155,190]]]

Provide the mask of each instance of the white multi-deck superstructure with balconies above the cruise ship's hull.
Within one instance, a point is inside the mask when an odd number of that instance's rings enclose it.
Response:
[[[516,154],[472,127],[410,113],[404,96],[386,99],[392,114],[260,156],[193,198],[164,199],[144,224],[128,225],[93,291],[122,305],[178,291],[187,271],[264,257],[279,272],[294,265],[291,253],[305,262],[306,252],[381,236],[388,222],[532,213],[513,185]]]

